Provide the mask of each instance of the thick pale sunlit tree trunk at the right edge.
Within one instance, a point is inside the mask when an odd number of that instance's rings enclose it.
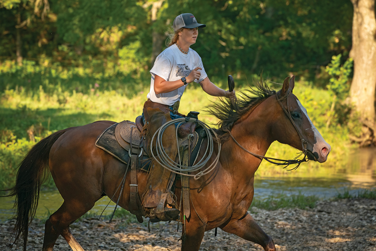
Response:
[[[375,87],[376,87],[376,19],[375,0],[351,0],[354,7],[352,49],[354,76],[350,87],[350,100],[354,114],[363,123],[362,146],[375,145]]]

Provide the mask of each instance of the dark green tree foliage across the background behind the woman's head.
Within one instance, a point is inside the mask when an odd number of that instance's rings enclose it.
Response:
[[[30,20],[21,28],[24,58],[49,67],[137,75],[150,67],[152,34],[164,40],[183,12],[207,25],[192,48],[211,75],[312,76],[332,55],[347,56],[350,49],[352,6],[343,0],[0,0],[1,60],[16,57],[20,15]]]

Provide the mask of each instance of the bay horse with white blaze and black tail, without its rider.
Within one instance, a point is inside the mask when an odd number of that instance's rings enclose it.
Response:
[[[236,106],[228,100],[219,100],[208,107],[209,113],[220,119],[215,131],[221,141],[221,153],[211,173],[197,180],[190,178],[190,208],[195,210],[183,222],[182,251],[199,250],[205,231],[217,227],[258,243],[265,251],[276,250],[271,237],[247,212],[253,199],[254,175],[263,159],[258,156],[265,155],[276,140],[304,151],[309,159],[320,163],[327,160],[331,151],[331,146],[292,93],[294,85],[293,76],[290,81],[285,79],[281,90],[273,91],[261,80],[257,88],[241,92]],[[59,235],[74,251],[83,251],[70,231],[70,224],[104,195],[114,195],[113,201],[129,209],[129,186],[124,186],[121,195],[117,190],[126,165],[95,146],[99,135],[114,123],[97,121],[67,128],[49,135],[30,149],[20,164],[16,184],[7,195],[15,196],[13,245],[23,239],[26,251],[28,227],[35,216],[47,170],[64,202],[45,222],[43,251],[52,251]],[[211,158],[217,153],[218,149],[214,149]],[[147,172],[139,171],[137,179],[139,195],[142,195]],[[131,184],[130,175],[125,182]],[[175,192],[179,199],[179,181]]]

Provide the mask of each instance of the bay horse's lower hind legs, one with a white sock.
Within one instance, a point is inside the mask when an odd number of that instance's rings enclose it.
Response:
[[[45,223],[42,251],[52,251],[59,235],[64,237],[73,251],[84,251],[72,235],[69,225],[90,210],[93,205],[94,203],[91,206],[85,207],[82,204],[72,205],[70,203],[67,206],[67,203],[64,201],[61,207]]]

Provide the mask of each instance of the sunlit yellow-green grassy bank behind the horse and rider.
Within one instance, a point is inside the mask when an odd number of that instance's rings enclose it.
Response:
[[[26,80],[29,83],[27,87],[9,84],[11,80],[8,79],[8,84],[1,93],[0,189],[14,184],[17,166],[22,157],[41,138],[70,126],[85,125],[96,120],[134,121],[141,114],[149,91],[149,80],[144,84],[135,81],[137,87],[129,94],[129,82],[122,86],[119,82],[111,85],[111,82],[104,80],[96,82],[95,79],[82,79],[82,85],[85,87],[71,88],[67,87],[68,82],[60,82],[56,86],[50,82],[48,85],[32,82],[37,79],[34,77],[30,80],[31,83]],[[147,76],[140,79],[147,79]],[[227,78],[211,80],[222,88],[227,86]],[[75,80],[75,85],[77,81],[79,80]],[[237,90],[248,88],[250,82],[249,79],[235,79]],[[271,86],[277,88],[275,84]],[[297,81],[295,86],[294,94],[299,97],[323,137],[331,144],[332,152],[324,164],[309,161],[291,172],[263,161],[256,172],[257,176],[328,176],[340,168],[341,161],[346,162],[343,156],[350,149],[347,128],[340,125],[326,126],[327,121],[334,116],[329,112],[332,103],[330,94],[314,88],[312,83],[305,81]],[[190,84],[181,100],[179,111],[184,114],[189,111],[200,111],[201,120],[216,123],[214,117],[202,113],[202,109],[216,99],[205,94],[198,84]],[[296,152],[290,146],[275,142],[267,156],[291,159],[296,157]],[[53,181],[50,181],[48,186],[53,187]]]

